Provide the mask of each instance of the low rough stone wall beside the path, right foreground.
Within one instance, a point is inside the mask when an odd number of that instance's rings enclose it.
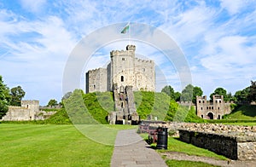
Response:
[[[181,141],[231,159],[256,160],[256,126],[225,124],[150,124],[177,130]]]

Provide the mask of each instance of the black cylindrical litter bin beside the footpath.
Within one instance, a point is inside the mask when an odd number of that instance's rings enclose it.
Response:
[[[168,146],[168,128],[159,127],[157,129],[156,149],[167,149]]]

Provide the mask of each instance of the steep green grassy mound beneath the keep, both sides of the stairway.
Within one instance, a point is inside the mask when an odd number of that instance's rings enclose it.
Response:
[[[165,93],[139,91],[134,92],[134,96],[137,113],[141,119],[146,119],[150,114],[158,120],[204,122],[196,116],[194,107],[179,107],[177,102],[171,100]],[[59,109],[49,119],[29,122],[32,124],[71,124],[71,122],[108,124],[108,113],[114,110],[113,92],[84,94],[83,91],[77,89],[64,104],[65,108]],[[73,120],[71,121],[69,117]],[[91,118],[96,121],[89,122]]]

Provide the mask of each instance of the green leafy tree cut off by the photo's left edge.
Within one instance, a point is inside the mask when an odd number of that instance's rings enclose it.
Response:
[[[0,76],[0,118],[8,112],[9,101],[9,88],[3,83],[3,78]]]

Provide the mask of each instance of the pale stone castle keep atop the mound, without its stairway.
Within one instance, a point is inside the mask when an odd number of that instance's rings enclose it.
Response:
[[[110,52],[111,61],[106,68],[86,72],[86,93],[113,91],[113,86],[132,86],[133,90],[154,91],[154,61],[135,57],[135,45],[126,50]]]

